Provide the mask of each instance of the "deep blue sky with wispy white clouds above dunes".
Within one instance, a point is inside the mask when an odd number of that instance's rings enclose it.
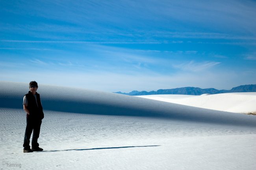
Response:
[[[256,84],[253,0],[0,0],[0,81],[100,91]]]

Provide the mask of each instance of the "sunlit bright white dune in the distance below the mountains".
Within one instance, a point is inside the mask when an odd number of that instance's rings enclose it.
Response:
[[[161,94],[137,97],[218,111],[256,113],[256,92],[223,93],[201,96]]]

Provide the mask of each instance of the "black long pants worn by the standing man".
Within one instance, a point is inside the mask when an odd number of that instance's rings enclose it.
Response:
[[[39,138],[41,124],[42,124],[42,120],[40,119],[27,118],[27,126],[26,126],[24,143],[23,143],[24,148],[30,148],[29,143],[30,143],[30,137],[31,137],[32,131],[33,131],[32,147],[37,148],[39,146],[39,144],[37,143],[37,139]]]

